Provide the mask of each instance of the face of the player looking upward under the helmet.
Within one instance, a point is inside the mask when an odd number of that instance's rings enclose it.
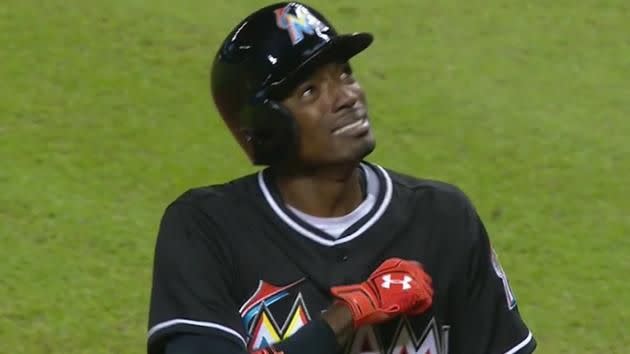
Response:
[[[355,162],[374,150],[365,93],[347,63],[322,66],[283,104],[298,124],[301,163]]]

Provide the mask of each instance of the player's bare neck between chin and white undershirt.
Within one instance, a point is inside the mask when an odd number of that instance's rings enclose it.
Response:
[[[285,203],[313,216],[343,216],[363,201],[360,166],[331,166],[275,173]]]

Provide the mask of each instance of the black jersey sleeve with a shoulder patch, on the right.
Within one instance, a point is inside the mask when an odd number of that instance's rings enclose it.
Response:
[[[536,348],[486,229],[471,211],[462,276],[456,282],[449,353],[526,354]]]

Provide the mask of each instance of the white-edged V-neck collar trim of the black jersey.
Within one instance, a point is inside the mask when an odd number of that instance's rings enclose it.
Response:
[[[352,241],[358,236],[360,236],[363,232],[365,232],[365,230],[370,228],[372,225],[374,225],[374,223],[376,223],[380,219],[380,217],[383,215],[383,213],[389,206],[389,203],[392,199],[392,189],[393,189],[392,180],[384,168],[375,164],[374,166],[382,172],[385,178],[385,196],[383,197],[383,202],[381,203],[381,205],[378,206],[378,210],[374,213],[374,215],[372,215],[372,217],[368,221],[366,221],[365,224],[363,224],[357,231],[337,240],[327,240],[323,237],[317,236],[315,233],[305,229],[300,224],[293,221],[293,219],[291,219],[291,217],[289,217],[282,210],[282,208],[278,206],[276,201],[271,196],[271,193],[269,192],[269,189],[267,188],[267,185],[265,184],[265,180],[263,178],[263,171],[260,171],[258,173],[258,185],[260,186],[260,189],[262,190],[269,206],[271,206],[271,208],[276,213],[276,215],[278,215],[278,217],[280,217],[280,219],[282,219],[282,221],[284,221],[287,225],[289,225],[291,228],[293,228],[295,231],[299,232],[303,236],[311,239],[312,241],[315,241],[324,246],[335,246],[335,245]]]

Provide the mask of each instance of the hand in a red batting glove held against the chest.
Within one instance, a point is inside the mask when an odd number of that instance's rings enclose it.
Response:
[[[332,287],[352,312],[354,328],[408,314],[419,315],[433,302],[431,277],[415,261],[390,258],[360,284]]]

